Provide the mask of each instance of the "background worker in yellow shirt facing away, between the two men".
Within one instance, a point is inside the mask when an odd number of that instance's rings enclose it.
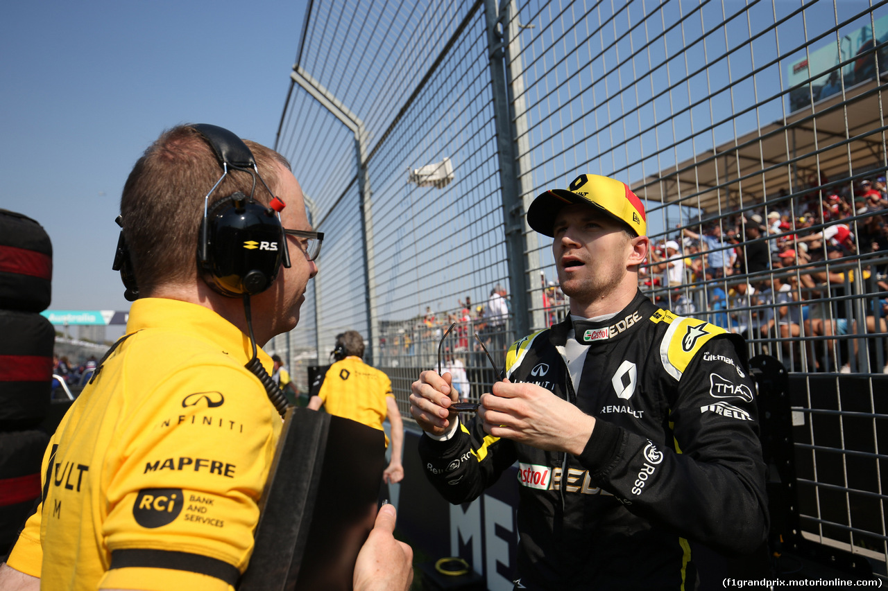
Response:
[[[337,335],[333,355],[337,361],[327,370],[321,390],[308,401],[308,407],[318,410],[324,406],[329,414],[379,430],[383,430],[383,421],[388,416],[392,425],[392,457],[383,480],[389,484],[400,482],[404,477],[400,463],[404,426],[392,393],[392,381],[376,367],[364,363],[364,339],[356,330]],[[387,445],[388,437],[385,442]]]

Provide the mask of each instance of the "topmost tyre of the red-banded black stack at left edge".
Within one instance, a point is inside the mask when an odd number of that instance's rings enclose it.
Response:
[[[44,311],[52,299],[52,242],[42,225],[0,209],[0,308]]]

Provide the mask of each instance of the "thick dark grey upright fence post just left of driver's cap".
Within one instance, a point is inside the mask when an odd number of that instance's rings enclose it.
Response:
[[[508,5],[508,4],[507,4]],[[504,46],[508,43],[507,26],[497,9],[496,0],[484,0],[484,12],[488,24],[488,57],[490,64],[490,91],[493,95],[496,146],[499,158],[500,186],[503,197],[503,225],[506,253],[509,260],[512,312],[516,335],[529,332],[528,316],[531,306],[528,297],[527,256],[525,253],[524,204],[519,194],[519,169],[517,165],[515,137],[511,124],[508,83],[503,61]],[[503,11],[503,17],[506,12]]]

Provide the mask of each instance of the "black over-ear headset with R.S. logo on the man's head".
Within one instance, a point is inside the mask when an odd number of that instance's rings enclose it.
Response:
[[[257,177],[269,194],[271,189],[259,176],[256,159],[241,138],[217,125],[198,123],[191,127],[207,140],[222,167],[222,177],[204,196],[197,243],[198,269],[207,285],[223,296],[254,296],[271,286],[281,263],[289,267],[287,240],[278,215],[284,203],[273,197],[271,207],[266,207],[253,199]],[[241,192],[228,195],[210,206],[210,195],[229,170],[250,174],[253,191],[249,197]],[[123,227],[119,216],[117,223]],[[117,241],[112,268],[121,273],[126,288],[123,296],[129,301],[138,298],[139,287],[123,232]]]

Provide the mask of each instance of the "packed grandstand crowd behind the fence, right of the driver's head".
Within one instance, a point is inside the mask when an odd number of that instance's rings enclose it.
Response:
[[[680,228],[652,245],[646,288],[797,371],[860,371],[852,335],[866,334],[871,371],[888,373],[885,177],[853,191],[821,185],[829,190],[796,199],[783,191],[773,207]]]

